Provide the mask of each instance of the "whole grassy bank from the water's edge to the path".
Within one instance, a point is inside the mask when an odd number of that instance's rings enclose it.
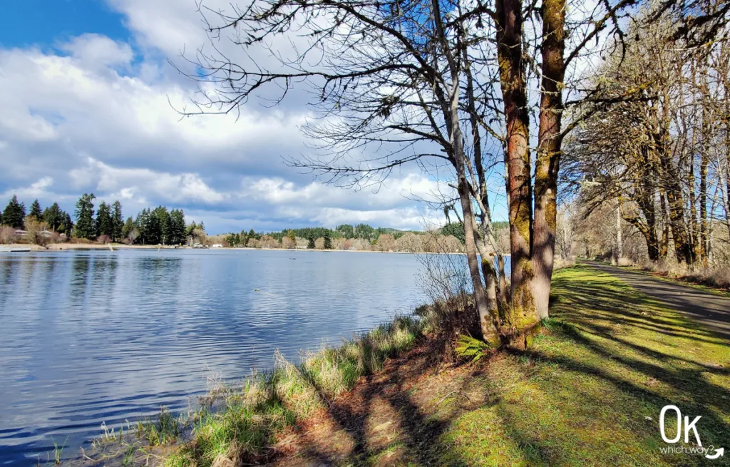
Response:
[[[301,366],[280,359],[224,388],[218,407],[140,428],[189,441],[161,452],[138,441],[126,465],[730,465],[663,454],[658,426],[674,404],[702,415],[705,447],[730,447],[725,342],[588,266],[556,273],[551,312],[528,351],[476,363],[444,363],[434,320],[409,318]]]

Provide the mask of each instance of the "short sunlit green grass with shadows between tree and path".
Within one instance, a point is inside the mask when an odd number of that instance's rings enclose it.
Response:
[[[677,405],[691,419],[702,415],[704,446],[730,447],[726,343],[588,266],[556,273],[551,314],[552,331],[531,349],[493,359],[469,382],[487,401],[450,421],[441,463],[729,465],[661,454],[658,422],[663,406]]]

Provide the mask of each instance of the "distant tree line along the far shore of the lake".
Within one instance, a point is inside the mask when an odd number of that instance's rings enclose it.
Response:
[[[25,204],[12,196],[0,214],[0,243],[70,242],[130,245],[199,245],[210,247],[281,248],[309,250],[357,250],[380,252],[464,252],[464,225],[446,223],[429,231],[399,231],[366,223],[342,224],[334,229],[306,227],[283,231],[208,235],[204,223],[185,222],[183,209],[159,206],[142,209],[137,217],[124,220],[120,201],[111,205],[84,193],[76,204],[74,220],[57,203],[42,209],[38,200],[26,214]],[[495,223],[506,242],[507,223]],[[24,230],[23,230],[24,229]]]

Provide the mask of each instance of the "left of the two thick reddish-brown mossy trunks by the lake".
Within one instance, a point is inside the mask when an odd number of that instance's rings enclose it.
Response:
[[[497,55],[507,124],[507,195],[510,198],[513,345],[526,346],[526,333],[539,323],[532,296],[532,187],[527,88],[522,59],[522,2],[497,0]],[[524,337],[524,339],[522,339]],[[521,342],[520,342],[521,340]]]

